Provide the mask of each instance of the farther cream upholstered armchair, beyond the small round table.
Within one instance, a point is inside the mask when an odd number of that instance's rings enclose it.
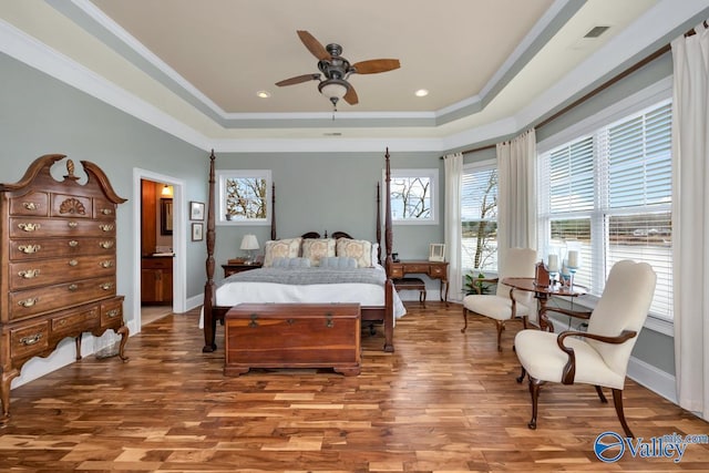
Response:
[[[504,268],[501,268],[495,295],[469,295],[463,298],[463,319],[467,329],[467,312],[491,318],[497,326],[497,350],[502,351],[502,331],[505,322],[521,319],[526,328],[530,315],[536,316],[536,301],[533,292],[512,289],[501,282],[503,278],[533,278],[536,250],[530,248],[510,248],[505,255]]]

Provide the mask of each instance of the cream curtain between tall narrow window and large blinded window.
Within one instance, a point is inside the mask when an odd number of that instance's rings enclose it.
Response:
[[[497,267],[507,248],[536,249],[536,133],[497,144]]]

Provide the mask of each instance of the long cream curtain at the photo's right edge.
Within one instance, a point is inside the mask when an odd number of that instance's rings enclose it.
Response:
[[[672,261],[679,405],[709,420],[709,32],[672,41]]]

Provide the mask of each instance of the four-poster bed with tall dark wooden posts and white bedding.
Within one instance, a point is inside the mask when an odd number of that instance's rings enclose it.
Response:
[[[307,269],[292,267],[294,263],[308,263],[302,261],[307,258],[275,258],[266,261],[265,267],[261,269],[253,269],[245,273],[239,273],[226,278],[220,284],[215,284],[214,271],[214,247],[216,239],[215,232],[215,204],[216,204],[216,186],[215,186],[215,155],[212,152],[209,156],[209,196],[207,208],[207,260],[206,260],[206,276],[207,280],[204,288],[204,307],[203,307],[203,323],[204,323],[204,352],[212,352],[216,350],[215,335],[217,321],[224,325],[225,316],[234,306],[248,302],[295,302],[307,305],[310,302],[358,302],[360,304],[361,322],[363,326],[374,323],[382,323],[384,331],[384,351],[393,351],[393,328],[394,318],[403,316],[405,309],[403,304],[399,299],[398,294],[393,289],[393,282],[390,278],[390,270],[392,266],[392,224],[391,224],[391,202],[390,195],[390,181],[391,169],[389,162],[389,150],[384,154],[384,196],[386,200],[386,215],[384,215],[384,257],[383,264],[381,257],[381,197],[380,187],[377,186],[377,220],[376,220],[376,234],[377,244],[371,245],[369,249],[370,259],[367,259],[367,255],[361,263],[360,259],[354,261],[357,268],[351,268],[354,258],[342,258],[340,256],[341,247],[347,251],[348,247],[354,247],[357,249],[358,244],[367,243],[362,240],[356,240],[350,235],[343,232],[335,232],[328,239],[327,232],[325,239],[329,241],[329,245],[337,245],[338,257],[323,257],[322,264],[318,268]],[[278,240],[276,236],[276,214],[275,214],[275,187],[271,193],[271,232],[270,238],[273,244],[282,245],[297,245],[300,247],[301,243],[316,243],[326,241],[320,239],[321,236],[316,232],[309,232],[300,237],[288,238],[285,240]],[[268,245],[268,244],[267,244]],[[302,244],[305,247],[305,244]],[[368,247],[369,248],[369,247]],[[268,251],[268,249],[267,249]],[[302,249],[300,250],[304,251]],[[291,255],[294,256],[294,255]],[[267,255],[268,259],[268,255]],[[282,265],[285,263],[285,265]],[[328,265],[326,265],[326,263]],[[280,264],[280,265],[278,265]],[[348,266],[347,268],[342,265]],[[291,266],[284,270],[282,267],[276,266]],[[329,266],[329,267],[325,267]],[[307,278],[307,281],[299,278]],[[298,279],[298,280],[296,280]]]

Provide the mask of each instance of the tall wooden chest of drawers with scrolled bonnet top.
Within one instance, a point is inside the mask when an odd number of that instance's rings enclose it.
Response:
[[[66,337],[129,330],[116,295],[119,197],[101,168],[84,175],[61,154],[37,158],[14,184],[0,184],[0,422],[10,413],[10,383],[33,357],[47,357]],[[63,176],[63,177],[62,177]]]

